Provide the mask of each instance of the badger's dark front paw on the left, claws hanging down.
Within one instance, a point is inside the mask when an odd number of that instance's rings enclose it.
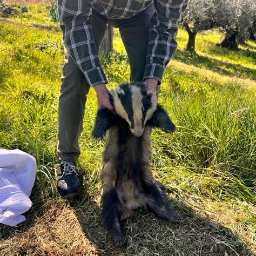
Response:
[[[107,129],[111,126],[113,113],[104,107],[98,110],[94,129],[92,132],[92,138],[96,140],[103,139]]]

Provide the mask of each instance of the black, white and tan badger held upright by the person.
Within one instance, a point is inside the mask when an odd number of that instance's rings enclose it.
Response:
[[[98,110],[94,139],[103,139],[109,130],[102,154],[102,217],[116,245],[126,239],[120,221],[131,217],[139,207],[155,217],[178,222],[180,216],[170,207],[164,186],[150,169],[151,130],[159,127],[172,133],[176,127],[157,96],[144,83],[122,84],[110,92],[114,112]]]

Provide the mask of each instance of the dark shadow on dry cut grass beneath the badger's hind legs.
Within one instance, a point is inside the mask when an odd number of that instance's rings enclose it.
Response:
[[[91,200],[91,199],[90,199]],[[124,220],[127,246],[115,247],[105,231],[98,204],[91,200],[84,206],[72,204],[83,232],[99,254],[160,254],[160,255],[248,255],[250,251],[241,245],[237,235],[229,228],[200,217],[191,208],[173,201],[175,210],[183,222],[173,224],[158,220],[145,210],[138,210],[134,217]]]

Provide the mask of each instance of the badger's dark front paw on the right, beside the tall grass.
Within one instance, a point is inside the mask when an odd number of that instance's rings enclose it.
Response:
[[[153,116],[147,123],[168,133],[172,133],[176,130],[176,127],[172,123],[170,117],[159,104],[157,105],[157,109],[154,111]]]

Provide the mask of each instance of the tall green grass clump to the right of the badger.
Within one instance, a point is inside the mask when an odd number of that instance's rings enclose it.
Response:
[[[255,202],[254,97],[224,87],[208,97],[194,93],[168,98],[163,104],[177,124],[177,132],[172,138],[161,132],[154,137],[165,137],[158,150],[171,166],[166,170],[165,161],[161,166],[156,161],[156,170],[161,167],[168,173],[179,166],[190,175],[203,177],[206,184],[201,192],[213,199]]]

